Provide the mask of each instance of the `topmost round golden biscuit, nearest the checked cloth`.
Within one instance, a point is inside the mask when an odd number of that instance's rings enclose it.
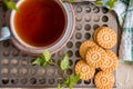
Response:
[[[99,46],[111,49],[115,46],[117,37],[113,29],[109,27],[100,27],[99,32],[94,36],[94,40]]]

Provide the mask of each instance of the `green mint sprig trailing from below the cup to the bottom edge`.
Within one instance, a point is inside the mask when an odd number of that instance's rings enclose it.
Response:
[[[68,87],[69,89],[72,89],[73,86],[80,80],[80,75],[70,75],[69,77],[64,76],[64,72],[70,68],[70,62],[69,62],[69,55],[65,53],[62,60],[60,61],[60,65],[54,63],[52,60],[52,56],[49,50],[44,50],[42,56],[38,57],[32,65],[39,65],[41,67],[47,67],[47,66],[55,66],[58,67],[63,73],[62,73],[62,80],[63,83],[58,83],[58,89],[62,89],[63,87]]]

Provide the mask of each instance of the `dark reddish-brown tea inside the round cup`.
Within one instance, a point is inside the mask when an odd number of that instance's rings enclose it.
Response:
[[[18,36],[34,47],[58,41],[65,24],[65,14],[55,0],[25,0],[14,17]]]

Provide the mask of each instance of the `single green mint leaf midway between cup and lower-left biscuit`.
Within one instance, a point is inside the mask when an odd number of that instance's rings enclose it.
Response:
[[[61,70],[65,71],[68,70],[70,67],[70,63],[69,63],[69,55],[66,53],[63,59],[61,60],[61,63],[60,63],[60,68]]]

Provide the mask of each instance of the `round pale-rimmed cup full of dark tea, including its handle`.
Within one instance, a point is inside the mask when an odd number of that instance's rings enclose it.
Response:
[[[13,44],[30,55],[45,49],[61,50],[72,37],[74,12],[70,3],[61,0],[19,0],[12,10],[10,29],[1,28],[0,41],[11,39]]]

